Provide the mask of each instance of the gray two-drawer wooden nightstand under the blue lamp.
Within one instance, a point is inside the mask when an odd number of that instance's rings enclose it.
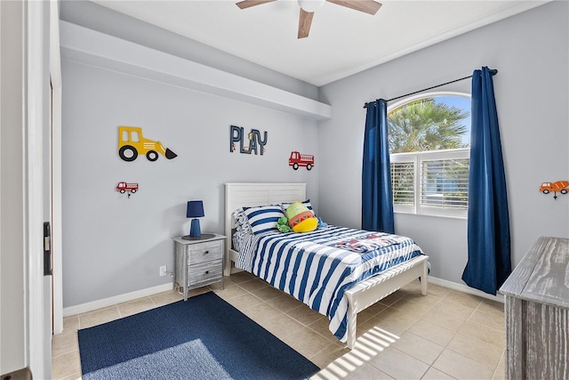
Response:
[[[174,240],[176,270],[174,283],[184,289],[184,301],[188,290],[221,282],[223,288],[223,253],[225,236],[204,233],[200,239],[177,237]]]

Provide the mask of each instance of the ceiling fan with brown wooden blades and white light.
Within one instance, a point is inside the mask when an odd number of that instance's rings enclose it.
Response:
[[[250,8],[255,5],[271,3],[275,0],[243,0],[236,5],[241,8]],[[312,24],[312,17],[325,2],[345,6],[346,8],[354,9],[356,11],[375,14],[381,8],[381,3],[374,0],[298,0],[301,5],[301,16],[299,18],[299,38],[309,36],[310,24]]]

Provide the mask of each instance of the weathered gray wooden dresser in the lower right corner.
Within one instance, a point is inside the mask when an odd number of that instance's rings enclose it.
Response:
[[[569,239],[539,238],[500,293],[506,378],[569,379]]]

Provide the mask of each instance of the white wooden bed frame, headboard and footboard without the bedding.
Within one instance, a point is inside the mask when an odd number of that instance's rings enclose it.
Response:
[[[306,183],[226,183],[225,184],[225,235],[228,244],[225,255],[225,276],[230,276],[238,253],[232,249],[234,229],[233,212],[243,206],[267,206],[306,199]],[[429,257],[421,255],[401,263],[389,271],[366,279],[345,292],[348,300],[348,341],[351,350],[356,344],[357,313],[382,298],[421,278],[421,294],[427,295]],[[235,271],[235,269],[234,269]]]

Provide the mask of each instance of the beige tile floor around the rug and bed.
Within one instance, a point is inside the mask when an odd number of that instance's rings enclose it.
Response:
[[[328,331],[327,319],[289,295],[241,272],[214,291],[322,368],[322,379],[502,379],[505,374],[503,304],[419,281],[357,316],[353,351]],[[52,378],[81,377],[77,329],[92,327],[182,299],[171,291],[63,320],[52,339]]]

